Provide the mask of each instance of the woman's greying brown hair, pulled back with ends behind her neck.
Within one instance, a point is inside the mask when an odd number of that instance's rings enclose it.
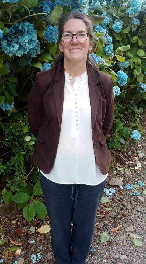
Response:
[[[59,41],[61,41],[61,33],[63,33],[64,25],[70,19],[81,19],[85,23],[85,25],[87,27],[87,33],[89,33],[89,35],[88,35],[89,40],[93,44],[94,35],[93,35],[93,30],[92,30],[92,21],[90,20],[90,18],[87,15],[85,15],[81,12],[71,12],[71,13],[68,13],[65,16],[61,17],[60,23],[58,26]],[[60,71],[63,68],[63,64],[64,64],[64,54],[60,54],[59,57],[57,58],[57,60],[54,62],[53,66],[56,66],[58,68],[58,70]],[[87,54],[87,64],[90,64],[96,68],[94,62],[89,57],[89,53]]]

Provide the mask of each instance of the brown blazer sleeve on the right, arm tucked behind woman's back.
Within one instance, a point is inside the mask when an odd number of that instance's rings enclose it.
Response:
[[[108,76],[109,77],[109,76]],[[114,116],[114,96],[113,96],[113,79],[110,78],[109,85],[106,83],[105,98],[106,98],[106,113],[103,121],[103,134],[106,137],[111,130]]]

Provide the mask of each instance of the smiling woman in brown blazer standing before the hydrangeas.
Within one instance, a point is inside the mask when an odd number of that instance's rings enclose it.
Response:
[[[32,160],[40,172],[54,258],[83,264],[111,162],[105,136],[113,123],[113,82],[89,58],[88,16],[69,13],[58,31],[61,54],[54,67],[36,74],[28,99],[37,138]]]

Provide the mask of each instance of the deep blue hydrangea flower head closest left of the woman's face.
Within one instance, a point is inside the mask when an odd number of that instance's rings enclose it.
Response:
[[[51,25],[47,26],[44,30],[43,36],[49,43],[55,43],[58,38],[57,27]]]

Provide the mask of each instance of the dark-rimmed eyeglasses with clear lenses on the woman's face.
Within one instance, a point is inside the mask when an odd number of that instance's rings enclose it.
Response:
[[[88,35],[89,33],[85,32],[80,32],[76,34],[66,32],[61,34],[61,38],[63,42],[70,42],[73,39],[73,36],[76,36],[78,42],[85,42],[87,40]]]

